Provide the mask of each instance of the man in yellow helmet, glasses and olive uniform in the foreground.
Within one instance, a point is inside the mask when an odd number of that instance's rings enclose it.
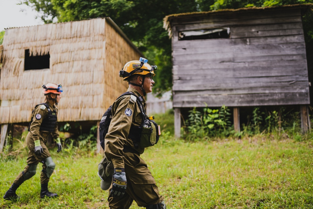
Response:
[[[141,98],[145,108],[146,93],[152,91],[156,66],[141,58],[125,64],[120,71],[128,81],[130,91]],[[125,95],[112,105],[112,120],[105,136],[105,156],[114,165],[113,180],[108,197],[110,209],[127,209],[135,200],[138,206],[151,209],[165,209],[164,198],[159,194],[156,182],[140,154],[140,128],[143,117],[136,96]]]

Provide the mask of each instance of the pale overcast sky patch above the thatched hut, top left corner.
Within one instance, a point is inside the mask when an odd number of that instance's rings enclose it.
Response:
[[[0,0],[0,31],[44,24],[39,18],[35,19],[36,11],[26,5],[17,5],[19,2],[20,0]]]

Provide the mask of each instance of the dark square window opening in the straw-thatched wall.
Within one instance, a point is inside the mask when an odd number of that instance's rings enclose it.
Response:
[[[29,56],[29,49],[25,50],[25,62],[24,69],[28,70],[39,70],[46,69],[50,66],[50,55],[35,55]]]

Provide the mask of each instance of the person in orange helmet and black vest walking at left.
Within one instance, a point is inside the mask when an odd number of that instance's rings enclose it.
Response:
[[[39,162],[42,165],[40,175],[41,191],[40,197],[56,197],[56,193],[48,191],[48,182],[50,175],[53,173],[55,164],[51,158],[46,143],[48,137],[56,139],[58,150],[62,149],[59,131],[57,126],[58,108],[56,105],[61,99],[61,85],[47,83],[43,86],[43,93],[46,96],[46,103],[36,105],[32,112],[32,119],[29,123],[28,134],[26,136],[26,144],[28,146],[27,165],[24,170],[16,177],[10,189],[5,193],[3,198],[10,200],[17,198],[15,191],[25,181],[36,174],[36,168]]]

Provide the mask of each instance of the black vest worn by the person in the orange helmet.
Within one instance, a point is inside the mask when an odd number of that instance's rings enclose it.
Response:
[[[57,113],[54,110],[53,112],[50,110],[50,107],[47,103],[41,103],[35,106],[35,108],[33,109],[33,111],[36,109],[36,107],[38,107],[39,105],[44,105],[47,107],[48,109],[48,115],[43,119],[39,131],[49,131],[49,132],[53,132],[55,125],[57,123]],[[29,127],[28,127],[28,131],[30,128],[30,124],[33,122],[33,117],[32,120],[29,123]]]

